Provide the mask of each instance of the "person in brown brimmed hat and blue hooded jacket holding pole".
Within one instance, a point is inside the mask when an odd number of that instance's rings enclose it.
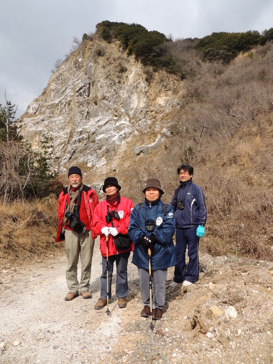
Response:
[[[150,316],[149,255],[153,276],[152,318],[162,317],[165,303],[167,270],[176,264],[173,236],[176,231],[174,211],[161,201],[164,190],[161,182],[150,178],[142,191],[145,201],[138,203],[131,212],[128,235],[135,243],[132,263],[137,265],[140,279],[142,317]]]

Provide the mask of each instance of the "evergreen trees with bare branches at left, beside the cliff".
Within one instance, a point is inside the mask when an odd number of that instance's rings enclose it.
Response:
[[[5,106],[0,104],[0,197],[4,203],[43,197],[60,189],[57,174],[49,170],[49,138],[42,140],[41,153],[34,152],[19,137],[16,111],[17,107],[6,98]]]

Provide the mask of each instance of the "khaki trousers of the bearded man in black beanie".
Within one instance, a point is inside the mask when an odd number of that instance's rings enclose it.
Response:
[[[78,234],[75,231],[65,230],[65,250],[67,255],[66,283],[69,291],[80,292],[89,290],[91,265],[95,240],[91,231]],[[81,276],[78,283],[78,258],[81,261]]]

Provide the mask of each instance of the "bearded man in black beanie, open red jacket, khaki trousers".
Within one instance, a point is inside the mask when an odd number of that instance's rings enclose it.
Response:
[[[66,283],[69,289],[64,297],[71,301],[78,297],[91,298],[89,282],[96,234],[93,229],[93,216],[98,197],[96,192],[82,183],[81,170],[72,166],[68,171],[69,187],[59,195],[58,232],[56,242],[65,240],[68,259]],[[80,253],[81,277],[78,283],[77,270]]]

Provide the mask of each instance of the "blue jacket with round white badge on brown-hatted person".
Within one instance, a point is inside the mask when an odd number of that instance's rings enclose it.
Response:
[[[147,249],[139,244],[139,239],[143,234],[156,236],[155,253],[151,257],[152,270],[166,269],[176,264],[176,252],[173,236],[176,231],[176,223],[173,209],[165,204],[165,214],[163,213],[163,202],[160,198],[152,204],[147,199],[131,212],[128,235],[135,243],[132,263],[138,268],[149,269],[149,256]],[[155,221],[156,227],[153,232],[145,228],[145,220]]]

